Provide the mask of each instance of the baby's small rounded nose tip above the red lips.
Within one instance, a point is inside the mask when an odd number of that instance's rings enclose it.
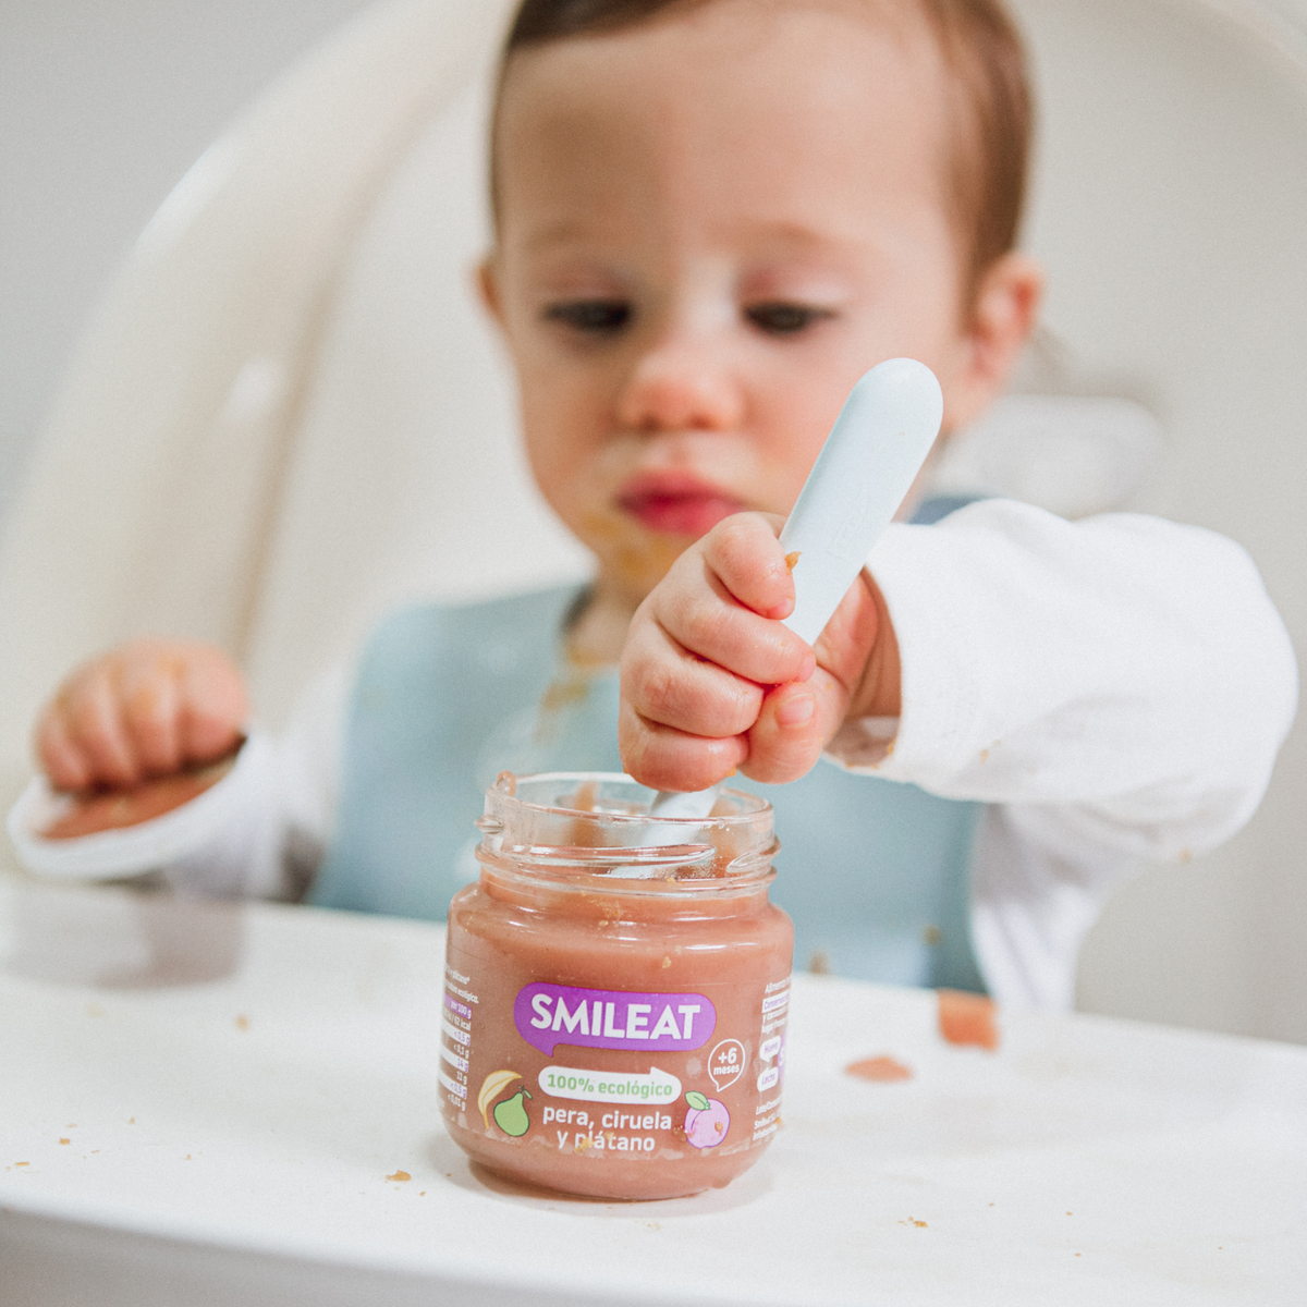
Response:
[[[634,431],[728,431],[744,410],[738,379],[711,346],[665,341],[637,362],[617,417]]]

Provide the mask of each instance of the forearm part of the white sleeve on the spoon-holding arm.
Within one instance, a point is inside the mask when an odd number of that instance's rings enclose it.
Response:
[[[993,499],[891,527],[869,566],[894,620],[903,710],[882,759],[846,723],[831,741],[846,763],[1056,813],[1141,859],[1212,848],[1256,809],[1297,667],[1233,541]]]

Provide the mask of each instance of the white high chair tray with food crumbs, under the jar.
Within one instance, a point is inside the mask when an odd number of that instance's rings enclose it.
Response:
[[[985,1053],[942,1043],[929,993],[796,976],[763,1162],[579,1201],[446,1136],[442,942],[0,886],[0,1300],[1303,1300],[1307,1048],[1005,1016]],[[878,1053],[914,1078],[843,1073]]]

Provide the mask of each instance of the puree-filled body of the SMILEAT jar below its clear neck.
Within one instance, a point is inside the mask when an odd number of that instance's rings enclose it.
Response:
[[[766,968],[678,954],[681,984],[635,988],[670,970],[669,953],[650,951],[643,967],[600,955],[588,975],[569,954],[571,974],[550,975],[451,920],[438,1074],[446,1124],[471,1157],[623,1199],[693,1193],[757,1161],[780,1125],[788,949]],[[630,989],[599,988],[623,967],[643,970]]]

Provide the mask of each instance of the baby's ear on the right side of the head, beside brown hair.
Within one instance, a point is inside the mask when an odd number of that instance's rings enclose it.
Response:
[[[1005,254],[985,271],[966,331],[968,357],[962,386],[954,392],[954,427],[966,426],[1002,393],[1043,298],[1044,271],[1030,255]]]

